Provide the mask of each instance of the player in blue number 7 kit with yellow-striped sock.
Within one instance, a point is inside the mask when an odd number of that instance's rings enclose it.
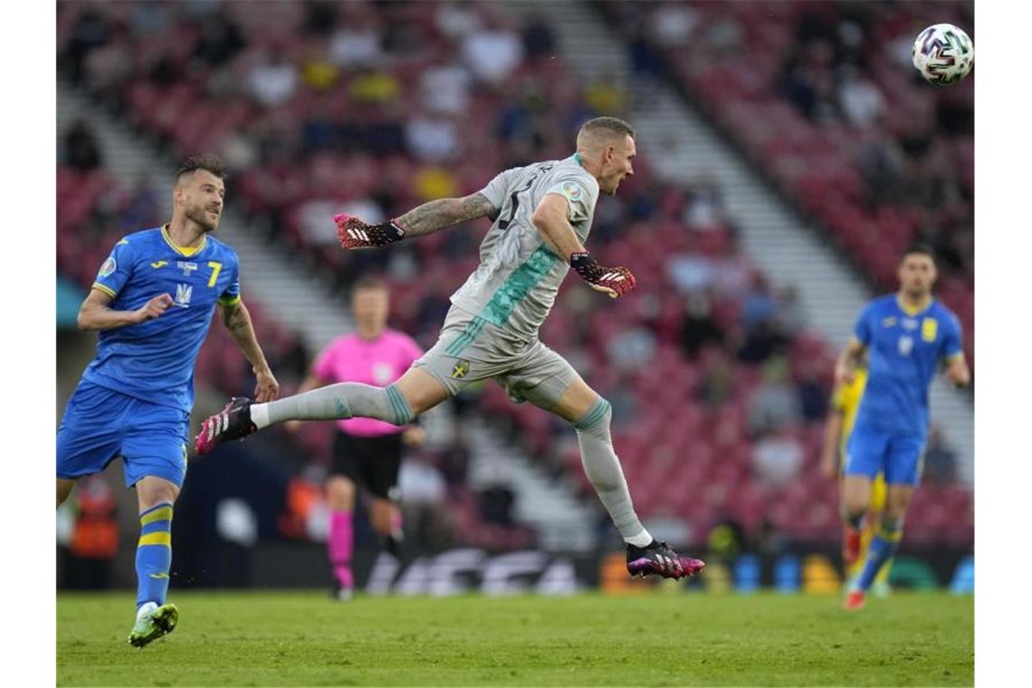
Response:
[[[123,458],[140,515],[129,635],[137,648],[179,620],[175,605],[165,603],[172,504],[187,470],[194,363],[216,304],[253,366],[255,394],[272,400],[280,389],[240,300],[236,254],[208,236],[222,216],[224,176],[218,160],[187,160],[176,174],[171,222],[120,240],[78,313],[79,328],[100,335],[58,429],[57,501],[79,478]]]

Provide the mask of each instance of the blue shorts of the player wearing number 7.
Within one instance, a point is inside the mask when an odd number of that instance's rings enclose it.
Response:
[[[190,414],[83,381],[58,429],[58,478],[98,473],[118,456],[126,487],[147,476],[183,486]]]

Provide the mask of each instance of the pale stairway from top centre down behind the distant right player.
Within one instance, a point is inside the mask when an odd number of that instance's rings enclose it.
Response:
[[[615,78],[628,92],[631,69],[622,37],[606,26],[586,2],[507,3],[515,13],[547,20],[571,69],[581,83]],[[647,107],[628,113],[643,156],[675,155],[669,168],[687,183],[714,176],[741,227],[743,252],[761,266],[776,289],[794,285],[811,324],[835,347],[845,346],[853,320],[875,296],[816,229],[781,200],[719,134],[673,89],[658,86]],[[672,152],[671,142],[675,149]],[[959,480],[974,483],[974,408],[971,398],[937,378],[931,391],[933,423],[958,452]]]

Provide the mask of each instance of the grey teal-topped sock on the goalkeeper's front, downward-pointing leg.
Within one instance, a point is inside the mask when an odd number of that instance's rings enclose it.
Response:
[[[623,478],[616,452],[613,451],[613,440],[609,433],[612,418],[609,402],[599,399],[583,418],[573,424],[581,448],[581,462],[587,479],[591,481],[599,499],[609,512],[609,518],[613,520],[613,525],[620,531],[623,539],[636,545],[648,545],[652,537],[635,514],[627,482]]]

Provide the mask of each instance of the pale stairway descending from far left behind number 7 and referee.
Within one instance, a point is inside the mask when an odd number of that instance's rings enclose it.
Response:
[[[160,198],[171,196],[175,161],[160,155],[128,126],[66,84],[58,83],[57,95],[59,137],[74,120],[86,119],[97,136],[105,169],[115,178],[131,188],[147,176]],[[329,219],[327,224],[327,231],[332,231]],[[239,255],[245,298],[254,298],[279,322],[300,332],[310,351],[318,351],[334,336],[352,330],[344,301],[329,293],[328,287],[313,275],[311,266],[290,260],[286,252],[270,250],[269,244],[249,231],[244,219],[234,211],[231,198],[219,227],[219,237]],[[201,398],[199,395],[198,401]],[[427,424],[431,443],[437,439],[436,428],[442,443],[451,437],[450,423],[440,421],[437,418]],[[556,484],[546,477],[525,454],[507,446],[501,433],[479,416],[473,424],[471,445],[472,487],[497,477],[497,466],[504,466],[507,482],[517,494],[516,518],[537,531],[543,547],[569,550],[589,549],[594,545],[593,516],[570,485]]]

